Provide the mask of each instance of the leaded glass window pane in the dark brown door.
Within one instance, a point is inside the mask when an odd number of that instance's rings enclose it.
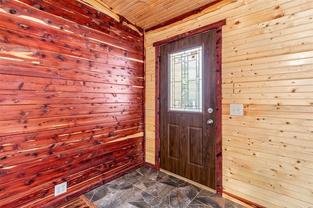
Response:
[[[202,46],[169,55],[169,110],[202,112]]]

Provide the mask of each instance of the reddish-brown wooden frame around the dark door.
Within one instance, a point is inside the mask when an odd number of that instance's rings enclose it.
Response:
[[[208,30],[216,29],[216,193],[222,196],[222,26],[226,24],[226,20],[217,21],[212,24],[182,33],[180,35],[154,42],[153,46],[156,48],[156,155],[155,155],[155,168],[160,169],[160,72],[159,72],[159,47],[169,42],[177,41],[182,38],[187,38]]]

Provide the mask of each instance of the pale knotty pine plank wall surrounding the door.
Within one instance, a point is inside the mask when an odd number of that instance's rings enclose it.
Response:
[[[313,206],[313,1],[222,1],[145,34],[146,162],[155,164],[154,42],[226,19],[223,191],[268,207]],[[244,104],[244,116],[229,116]]]

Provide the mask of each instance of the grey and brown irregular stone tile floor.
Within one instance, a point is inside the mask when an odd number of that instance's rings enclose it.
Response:
[[[140,167],[85,196],[97,208],[245,208],[214,192]]]

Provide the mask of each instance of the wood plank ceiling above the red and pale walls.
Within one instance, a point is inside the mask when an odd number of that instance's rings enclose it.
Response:
[[[127,20],[146,30],[217,0],[101,0]],[[89,1],[89,3],[91,3]]]

